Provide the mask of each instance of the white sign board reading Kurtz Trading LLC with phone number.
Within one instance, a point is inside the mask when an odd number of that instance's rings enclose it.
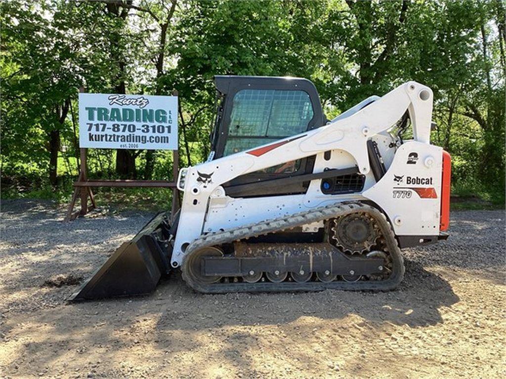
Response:
[[[177,96],[79,93],[79,147],[177,150]]]

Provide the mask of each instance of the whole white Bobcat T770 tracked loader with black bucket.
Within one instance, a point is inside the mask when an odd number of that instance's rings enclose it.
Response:
[[[447,238],[430,88],[407,82],[328,121],[309,80],[215,81],[212,152],[180,170],[180,212],[155,216],[71,300],[147,294],[177,269],[204,293],[392,290],[402,248]]]

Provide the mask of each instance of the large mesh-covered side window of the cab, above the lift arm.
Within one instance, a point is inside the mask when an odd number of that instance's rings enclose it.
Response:
[[[234,96],[224,155],[302,133],[313,115],[305,91],[243,89]]]

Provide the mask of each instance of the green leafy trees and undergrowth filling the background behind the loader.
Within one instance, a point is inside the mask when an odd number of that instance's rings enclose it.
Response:
[[[307,77],[329,118],[401,82],[423,82],[434,91],[432,141],[452,155],[454,193],[504,202],[500,0],[12,0],[1,7],[3,197],[67,194],[77,174],[80,86],[177,90],[181,164],[205,160],[213,76],[230,74]],[[118,177],[117,154],[91,150],[90,176]],[[171,177],[170,153],[135,155],[132,175]],[[154,192],[124,194],[162,201]]]

